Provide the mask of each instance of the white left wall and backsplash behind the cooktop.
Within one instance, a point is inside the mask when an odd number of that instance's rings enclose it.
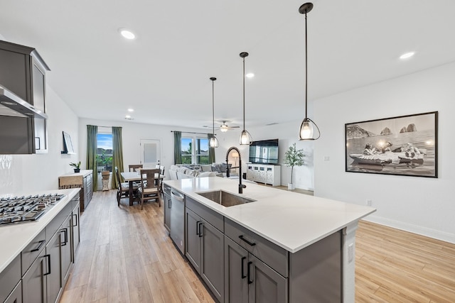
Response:
[[[73,171],[69,163],[75,162],[78,155],[63,155],[60,151],[62,131],[70,134],[77,150],[77,116],[49,86],[46,97],[49,153],[0,155],[0,195],[58,189],[58,176]]]

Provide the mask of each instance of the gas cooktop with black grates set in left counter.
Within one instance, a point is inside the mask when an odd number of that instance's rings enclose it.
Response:
[[[64,194],[37,194],[0,199],[0,226],[36,221]]]

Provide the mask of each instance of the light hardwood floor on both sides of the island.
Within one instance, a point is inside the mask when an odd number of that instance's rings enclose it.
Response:
[[[95,192],[60,302],[213,302],[171,243],[156,203]],[[356,302],[455,302],[455,245],[361,221]]]

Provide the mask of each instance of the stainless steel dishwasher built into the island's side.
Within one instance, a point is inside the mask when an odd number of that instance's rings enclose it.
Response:
[[[171,239],[185,255],[185,195],[171,189]]]

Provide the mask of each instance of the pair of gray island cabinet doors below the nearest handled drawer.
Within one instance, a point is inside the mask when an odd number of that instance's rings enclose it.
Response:
[[[225,302],[287,302],[287,279],[225,236]]]

